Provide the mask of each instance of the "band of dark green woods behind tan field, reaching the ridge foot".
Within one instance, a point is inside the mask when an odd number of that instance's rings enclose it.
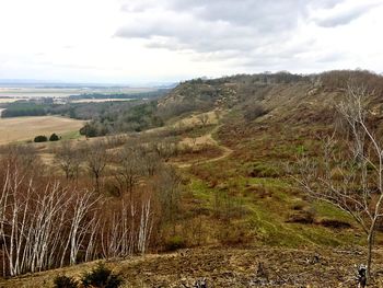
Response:
[[[80,130],[82,135],[88,137],[160,127],[166,118],[164,115],[160,115],[156,100],[68,104],[14,102],[7,104],[5,110],[1,113],[1,117],[45,115],[90,120]]]

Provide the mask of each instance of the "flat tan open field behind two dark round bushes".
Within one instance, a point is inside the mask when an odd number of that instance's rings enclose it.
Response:
[[[37,135],[60,136],[79,130],[82,125],[82,120],[56,116],[0,118],[0,145],[32,140]]]

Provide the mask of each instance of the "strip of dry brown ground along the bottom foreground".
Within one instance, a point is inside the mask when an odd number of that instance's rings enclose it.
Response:
[[[381,256],[376,255],[371,287],[383,287]],[[123,275],[124,287],[194,287],[201,278],[208,287],[356,287],[356,265],[362,262],[362,253],[355,249],[205,247],[135,256],[107,265]],[[0,287],[53,287],[55,276],[80,277],[94,265],[2,279]]]

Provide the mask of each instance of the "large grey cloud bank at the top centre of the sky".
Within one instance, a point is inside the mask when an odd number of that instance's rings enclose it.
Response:
[[[152,49],[188,51],[201,61],[244,66],[274,65],[294,58],[311,36],[297,41],[300,25],[317,10],[333,10],[335,0],[129,0],[121,10],[126,24],[115,36],[143,39]]]

